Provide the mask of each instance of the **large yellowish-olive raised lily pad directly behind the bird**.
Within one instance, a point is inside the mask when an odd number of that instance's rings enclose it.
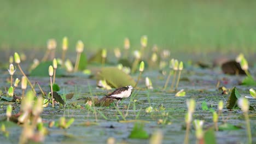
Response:
[[[105,67],[102,68],[100,73],[98,73],[98,79],[105,79],[109,85],[118,88],[123,86],[135,86],[136,82],[132,79],[132,77],[123,70],[120,70],[116,67]]]

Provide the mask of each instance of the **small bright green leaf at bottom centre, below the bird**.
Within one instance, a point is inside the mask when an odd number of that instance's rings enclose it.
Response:
[[[144,130],[143,123],[135,123],[129,138],[131,139],[148,139],[149,135],[146,130]]]

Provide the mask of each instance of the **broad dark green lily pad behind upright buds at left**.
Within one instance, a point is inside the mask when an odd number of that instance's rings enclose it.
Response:
[[[40,63],[39,65],[37,65],[36,68],[34,68],[31,71],[30,76],[41,76],[41,77],[49,76],[48,69],[50,65],[53,65],[53,62],[46,61],[46,62]],[[65,75],[65,70],[61,68],[61,65],[58,65],[56,69],[56,76],[58,77],[63,75]]]

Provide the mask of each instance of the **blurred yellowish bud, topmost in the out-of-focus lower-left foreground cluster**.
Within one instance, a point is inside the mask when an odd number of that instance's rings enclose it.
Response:
[[[30,111],[33,106],[33,100],[34,100],[34,92],[28,91],[26,97],[21,101],[21,110],[24,112]]]

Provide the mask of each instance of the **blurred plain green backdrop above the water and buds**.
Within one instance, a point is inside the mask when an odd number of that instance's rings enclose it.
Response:
[[[74,49],[123,47],[130,38],[139,49],[251,53],[256,47],[256,1],[0,1],[1,49],[42,49],[46,41],[69,38]]]

